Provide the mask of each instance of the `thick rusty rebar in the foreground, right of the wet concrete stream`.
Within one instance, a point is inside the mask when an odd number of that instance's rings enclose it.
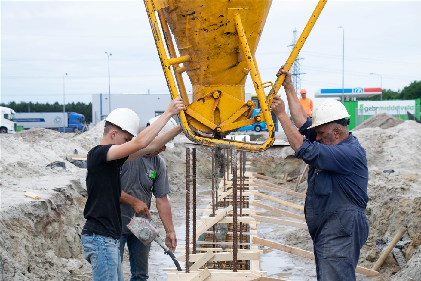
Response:
[[[233,270],[238,270],[238,227],[237,227],[237,149],[231,151],[232,157],[232,263]]]

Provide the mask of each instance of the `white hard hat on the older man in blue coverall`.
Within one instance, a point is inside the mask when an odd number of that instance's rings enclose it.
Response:
[[[349,116],[348,111],[346,111],[345,106],[340,101],[323,100],[314,106],[312,125],[307,130]]]

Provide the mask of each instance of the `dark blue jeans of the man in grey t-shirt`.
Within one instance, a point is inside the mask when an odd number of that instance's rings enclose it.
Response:
[[[120,238],[120,256],[123,261],[124,245],[127,242],[130,261],[130,281],[148,280],[148,258],[151,245],[145,246],[136,236],[122,234]]]

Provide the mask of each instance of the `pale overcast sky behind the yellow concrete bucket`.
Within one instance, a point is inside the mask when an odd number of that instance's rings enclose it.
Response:
[[[211,2],[211,1],[210,1]],[[398,90],[421,80],[420,1],[329,0],[301,50],[302,88]],[[263,81],[288,57],[293,30],[301,34],[317,1],[274,0],[256,51]],[[1,96],[3,103],[91,102],[108,93],[168,93],[144,3],[136,1],[5,1],[1,5]],[[185,75],[185,74],[184,74]],[[187,75],[187,89],[191,89]],[[246,92],[254,93],[248,78]],[[280,92],[283,92],[281,89]],[[317,100],[315,102],[317,103]]]

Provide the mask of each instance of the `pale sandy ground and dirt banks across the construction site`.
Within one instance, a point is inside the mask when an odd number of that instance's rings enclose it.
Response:
[[[373,124],[379,122],[382,120]],[[378,277],[357,275],[358,280],[406,280],[408,276],[421,280],[418,247],[421,242],[421,125],[413,121],[394,123],[397,125],[386,129],[366,127],[354,131],[366,149],[370,169],[370,202],[367,206],[370,234],[362,248],[359,264],[372,267],[380,254],[375,248],[376,239],[393,237],[400,227],[407,229],[404,236],[412,241],[403,249],[408,262],[399,271],[400,267],[391,254]],[[88,152],[99,143],[101,134],[99,125],[77,136],[45,129],[0,136],[0,235],[3,238],[0,240],[0,254],[4,280],[91,280],[91,268],[83,257],[80,243],[80,232],[85,223],[86,170],[60,155],[74,154],[75,149],[79,153]],[[282,134],[277,137],[285,138]],[[170,202],[179,246],[184,246],[185,239],[184,140],[184,136],[177,137],[176,147],[162,154],[169,171]],[[194,147],[198,149],[197,174],[201,177],[198,179],[198,198],[210,197],[210,149]],[[252,162],[251,171],[275,178],[283,179],[285,173],[297,175],[303,168],[303,162],[293,156],[290,147],[285,146],[270,148],[260,154],[248,153],[247,157]],[[66,169],[46,167],[54,161],[64,162]],[[298,186],[298,191],[304,192],[305,186],[304,181]],[[25,191],[35,192],[42,199],[25,197]],[[261,192],[296,204],[304,203],[301,197]],[[206,204],[200,200],[197,202],[198,208]],[[267,200],[262,200],[262,203],[279,208]],[[154,204],[152,210],[156,210]],[[299,213],[290,208],[285,210]],[[158,217],[156,211],[152,213]],[[270,212],[264,215],[290,219]],[[160,220],[155,219],[155,222]],[[162,225],[159,227],[163,230]],[[306,230],[261,223],[259,236],[312,251],[312,241]],[[176,256],[179,254],[181,251],[177,250]],[[127,254],[123,266],[128,280]],[[171,258],[153,243],[149,256],[149,280],[166,280],[163,267],[174,265]],[[261,267],[273,277],[316,279],[314,261],[267,247],[261,255]]]

